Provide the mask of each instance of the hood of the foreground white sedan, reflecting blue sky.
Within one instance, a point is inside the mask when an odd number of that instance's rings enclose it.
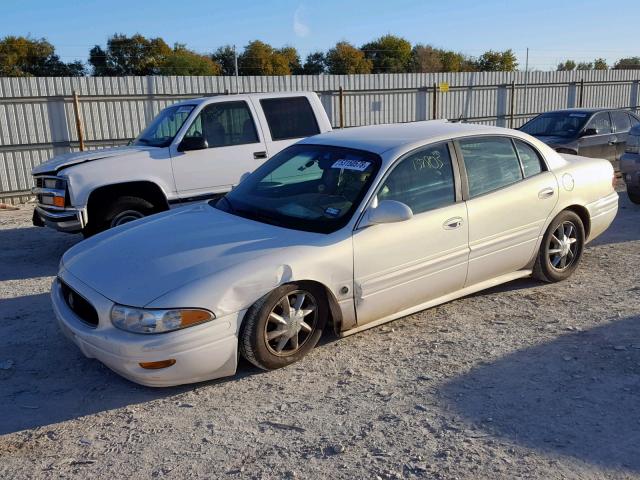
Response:
[[[65,253],[62,267],[113,302],[142,307],[190,282],[242,266],[246,271],[251,260],[284,253],[318,236],[199,203],[85,240]],[[237,279],[229,275],[224,280]]]

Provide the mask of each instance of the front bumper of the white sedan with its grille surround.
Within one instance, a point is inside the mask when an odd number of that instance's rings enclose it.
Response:
[[[175,332],[145,335],[125,332],[111,324],[113,302],[61,270],[60,278],[98,312],[92,327],[67,304],[56,278],[51,300],[58,324],[82,353],[95,358],[119,375],[150,387],[168,387],[226,377],[236,372],[238,329],[244,311]],[[174,359],[174,365],[159,369],[142,368],[141,362]]]

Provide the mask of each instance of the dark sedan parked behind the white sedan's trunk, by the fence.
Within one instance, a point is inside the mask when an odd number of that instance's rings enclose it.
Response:
[[[628,110],[569,108],[542,113],[520,130],[559,153],[606,158],[615,166],[624,154],[629,130],[638,124],[640,117]]]

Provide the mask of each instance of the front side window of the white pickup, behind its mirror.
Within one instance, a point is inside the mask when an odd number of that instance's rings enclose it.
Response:
[[[193,121],[185,137],[204,137],[209,148],[260,141],[251,111],[244,101],[207,105]]]

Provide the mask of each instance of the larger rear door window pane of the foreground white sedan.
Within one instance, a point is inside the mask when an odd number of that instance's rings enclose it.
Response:
[[[511,139],[479,137],[459,140],[471,198],[522,180]]]

